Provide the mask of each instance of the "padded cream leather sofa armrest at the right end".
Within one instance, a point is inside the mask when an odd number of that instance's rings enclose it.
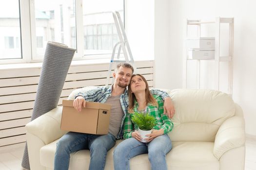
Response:
[[[241,116],[225,120],[219,127],[214,144],[214,155],[220,159],[222,154],[245,145],[245,124]]]

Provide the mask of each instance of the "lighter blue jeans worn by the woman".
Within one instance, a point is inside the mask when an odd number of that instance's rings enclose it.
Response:
[[[129,160],[139,154],[148,153],[151,170],[167,170],[165,155],[172,149],[168,135],[161,135],[149,143],[131,137],[118,144],[114,151],[115,170],[130,170]]]

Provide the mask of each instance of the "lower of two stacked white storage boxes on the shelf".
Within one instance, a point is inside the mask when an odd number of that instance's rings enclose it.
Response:
[[[214,50],[188,49],[188,59],[194,59],[194,60],[214,59]]]

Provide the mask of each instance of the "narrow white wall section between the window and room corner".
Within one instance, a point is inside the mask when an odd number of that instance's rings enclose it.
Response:
[[[126,0],[125,14],[134,59],[154,60],[154,0]]]

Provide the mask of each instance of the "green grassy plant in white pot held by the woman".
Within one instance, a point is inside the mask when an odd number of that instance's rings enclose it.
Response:
[[[134,113],[132,116],[132,122],[138,126],[138,133],[141,135],[141,142],[146,142],[148,134],[151,134],[152,128],[156,125],[156,119],[154,116],[146,113]]]

